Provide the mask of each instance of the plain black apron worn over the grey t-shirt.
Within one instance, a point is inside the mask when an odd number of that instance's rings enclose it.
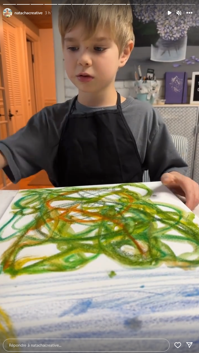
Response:
[[[76,100],[59,141],[57,186],[142,182],[142,163],[118,92],[117,109],[71,114]]]

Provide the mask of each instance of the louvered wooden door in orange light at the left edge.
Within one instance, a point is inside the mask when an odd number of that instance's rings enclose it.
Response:
[[[3,30],[10,110],[13,114],[11,118],[12,133],[15,133],[25,125],[21,76],[25,74],[25,71],[23,73],[20,66],[20,38],[18,36],[18,29],[14,28],[7,21],[3,21]]]

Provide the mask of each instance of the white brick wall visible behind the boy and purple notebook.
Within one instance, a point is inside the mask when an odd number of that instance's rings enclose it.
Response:
[[[164,99],[164,80],[160,80],[160,97]],[[116,81],[115,88],[123,97],[127,98],[128,96],[136,97],[134,81]],[[71,99],[72,97],[78,94],[78,90],[75,85],[68,79],[66,72],[64,73],[64,89],[65,89],[65,100]],[[188,99],[187,103],[190,100],[191,93],[191,80],[188,80]]]

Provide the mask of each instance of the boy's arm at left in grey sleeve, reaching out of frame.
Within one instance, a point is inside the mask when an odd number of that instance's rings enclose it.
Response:
[[[49,125],[52,124],[47,119],[46,109],[42,109],[21,130],[0,140],[0,169],[4,169],[12,183],[16,184],[42,169],[49,170],[52,144],[56,143],[56,132]]]

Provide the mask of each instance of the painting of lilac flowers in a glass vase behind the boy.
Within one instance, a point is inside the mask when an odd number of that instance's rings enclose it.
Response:
[[[199,3],[197,5],[150,4],[131,1],[135,47],[127,64],[120,68],[116,80],[134,80],[135,70],[141,66],[142,76],[147,69],[155,71],[157,79],[165,72],[199,71]],[[183,1],[181,1],[182,3]],[[184,1],[187,2],[187,1]],[[175,5],[176,3],[176,5]],[[165,4],[165,1],[162,1]],[[169,11],[169,14],[168,14]]]

